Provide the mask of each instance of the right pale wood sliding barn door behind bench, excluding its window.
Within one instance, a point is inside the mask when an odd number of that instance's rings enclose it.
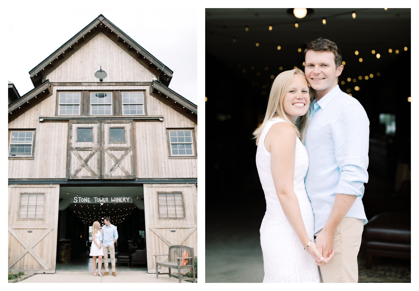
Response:
[[[185,218],[159,218],[158,192],[182,192]],[[169,245],[180,244],[193,247],[194,254],[197,256],[197,187],[195,184],[144,184],[144,206],[149,273],[155,273],[154,255],[168,254]],[[164,260],[167,257],[158,259]]]

